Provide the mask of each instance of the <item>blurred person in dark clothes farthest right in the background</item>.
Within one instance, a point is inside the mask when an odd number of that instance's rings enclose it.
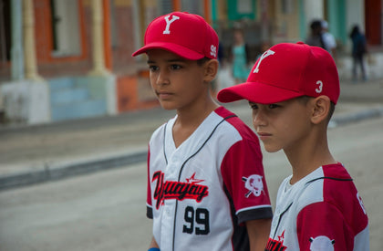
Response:
[[[359,26],[353,26],[350,38],[352,41],[352,58],[353,58],[353,66],[352,66],[352,76],[353,80],[357,80],[357,66],[360,67],[362,72],[362,79],[367,80],[364,56],[367,53],[367,41],[364,34],[360,32]]]

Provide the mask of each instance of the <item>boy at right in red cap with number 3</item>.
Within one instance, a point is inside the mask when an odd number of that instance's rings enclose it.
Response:
[[[271,47],[245,83],[218,93],[223,102],[249,100],[265,150],[284,150],[293,169],[279,187],[265,250],[369,249],[362,200],[327,145],[338,97],[333,58],[302,42]]]

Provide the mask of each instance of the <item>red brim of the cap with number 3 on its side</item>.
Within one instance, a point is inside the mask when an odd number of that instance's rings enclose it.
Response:
[[[240,99],[247,99],[259,104],[273,104],[287,99],[294,99],[304,94],[289,89],[281,89],[260,82],[245,82],[218,92],[217,99],[227,103]]]

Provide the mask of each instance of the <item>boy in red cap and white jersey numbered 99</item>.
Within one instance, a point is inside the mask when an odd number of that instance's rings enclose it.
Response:
[[[254,132],[210,94],[218,36],[197,15],[174,12],[145,33],[150,84],[177,115],[150,138],[150,250],[264,250],[273,217]]]

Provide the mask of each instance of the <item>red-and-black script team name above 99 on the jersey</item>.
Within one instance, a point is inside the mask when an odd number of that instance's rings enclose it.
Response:
[[[182,201],[184,199],[191,199],[199,203],[209,194],[208,186],[197,184],[202,183],[203,180],[195,179],[195,173],[191,175],[191,178],[186,179],[186,183],[165,182],[164,175],[165,173],[158,171],[153,174],[153,178],[151,179],[152,183],[157,181],[154,191],[154,199],[157,200],[157,209],[160,208],[160,205],[163,204],[165,200],[176,199]]]

